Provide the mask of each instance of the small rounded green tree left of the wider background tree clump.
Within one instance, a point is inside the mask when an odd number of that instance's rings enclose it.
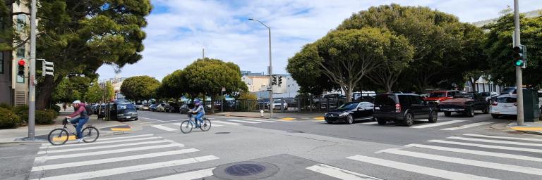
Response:
[[[160,82],[149,76],[136,76],[125,79],[121,85],[121,92],[126,98],[133,101],[149,100],[155,98]]]

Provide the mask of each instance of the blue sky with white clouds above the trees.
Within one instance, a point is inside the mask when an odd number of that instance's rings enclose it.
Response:
[[[217,58],[241,70],[267,73],[271,28],[274,74],[287,74],[288,58],[305,44],[323,37],[353,13],[371,6],[428,6],[474,23],[498,18],[513,0],[150,0],[143,59],[119,74],[111,65],[98,69],[100,79],[148,75],[159,81],[198,58]],[[520,0],[520,12],[542,9],[542,0]]]

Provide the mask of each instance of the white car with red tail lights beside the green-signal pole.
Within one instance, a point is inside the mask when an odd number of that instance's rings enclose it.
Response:
[[[504,94],[497,97],[495,102],[491,103],[489,113],[491,117],[499,118],[501,115],[517,115],[517,95]]]

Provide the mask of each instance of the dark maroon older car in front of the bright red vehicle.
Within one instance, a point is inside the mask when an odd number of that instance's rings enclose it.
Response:
[[[484,114],[489,113],[489,103],[486,101],[486,97],[481,94],[463,93],[440,102],[438,109],[444,112],[446,117],[450,117],[452,113],[462,113],[468,117],[474,117],[474,110],[481,110]]]

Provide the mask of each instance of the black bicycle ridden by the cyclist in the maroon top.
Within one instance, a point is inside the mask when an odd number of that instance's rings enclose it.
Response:
[[[68,141],[69,134],[73,134],[73,136],[77,136],[77,133],[74,131],[71,131],[66,125],[68,125],[68,118],[64,118],[62,121],[62,124],[64,127],[53,129],[51,132],[49,132],[49,136],[47,138],[47,141],[51,143],[54,146],[63,145]],[[74,128],[77,127],[77,124],[72,124]],[[92,125],[87,125],[87,127],[83,128],[81,131],[81,134],[83,135],[83,141],[85,143],[92,143],[98,139],[100,136],[100,131],[98,131],[97,128],[93,127]]]

